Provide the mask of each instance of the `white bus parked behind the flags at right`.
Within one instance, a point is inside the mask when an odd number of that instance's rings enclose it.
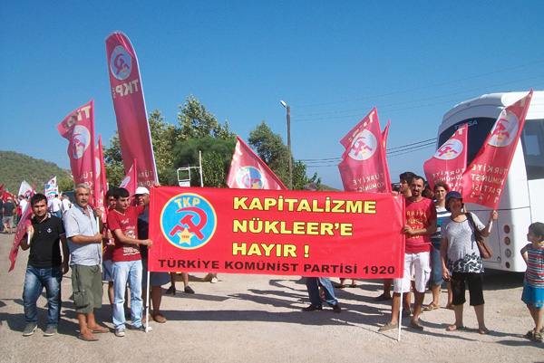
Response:
[[[438,129],[437,148],[449,139],[455,129],[469,124],[468,164],[476,157],[500,111],[528,92],[491,93],[461,102],[449,110]],[[469,204],[483,223],[490,209]],[[520,249],[528,244],[527,228],[533,222],[544,222],[544,91],[535,91],[529,105],[525,126],[514,153],[510,171],[500,196],[499,219],[493,224],[486,241],[493,256],[484,260],[486,268],[524,272]]]

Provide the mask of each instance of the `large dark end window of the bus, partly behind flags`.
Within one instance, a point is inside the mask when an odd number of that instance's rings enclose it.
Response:
[[[448,139],[450,139],[455,132],[455,130],[461,128],[462,125],[465,123],[469,124],[469,136],[468,136],[468,143],[469,148],[467,150],[467,166],[469,166],[476,158],[476,155],[478,155],[478,151],[480,151],[481,146],[485,142],[485,139],[488,137],[491,129],[493,128],[493,125],[495,124],[495,121],[497,119],[491,119],[491,118],[475,118],[475,119],[463,119],[460,122],[457,122],[456,124],[452,125],[448,129],[445,129],[439,138],[438,145],[442,145],[444,142],[446,142]]]

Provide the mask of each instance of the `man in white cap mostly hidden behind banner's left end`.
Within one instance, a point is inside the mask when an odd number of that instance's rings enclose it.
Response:
[[[143,205],[144,211],[141,215],[138,216],[138,238],[145,240],[149,236],[149,221],[150,221],[150,191],[147,187],[138,186],[136,192],[134,193],[136,198],[136,205]],[[147,276],[148,276],[148,249],[146,245],[140,246],[141,253],[141,267],[142,267],[142,277],[141,277],[141,291],[143,293],[142,299],[144,299],[143,307],[147,306]],[[168,272],[150,272],[150,281],[151,281],[151,304],[153,307],[153,312],[151,317],[153,320],[163,323],[166,322],[166,319],[160,313],[160,301],[162,300],[162,288],[161,286],[165,283],[170,282],[170,276]],[[151,308],[151,305],[150,305]],[[143,321],[148,318],[144,318]]]

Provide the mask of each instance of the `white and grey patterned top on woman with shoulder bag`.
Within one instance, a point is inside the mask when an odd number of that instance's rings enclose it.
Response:
[[[473,213],[472,220],[479,231],[485,228],[480,219]],[[476,237],[471,221],[467,218],[462,222],[455,222],[446,218],[441,228],[442,238],[448,239],[448,258],[446,267],[451,272],[483,272],[480,250],[476,244]]]

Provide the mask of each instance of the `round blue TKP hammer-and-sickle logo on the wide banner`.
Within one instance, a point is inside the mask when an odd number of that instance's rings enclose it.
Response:
[[[183,193],[171,198],[162,208],[160,229],[170,244],[194,250],[208,244],[215,234],[217,215],[204,197]]]

